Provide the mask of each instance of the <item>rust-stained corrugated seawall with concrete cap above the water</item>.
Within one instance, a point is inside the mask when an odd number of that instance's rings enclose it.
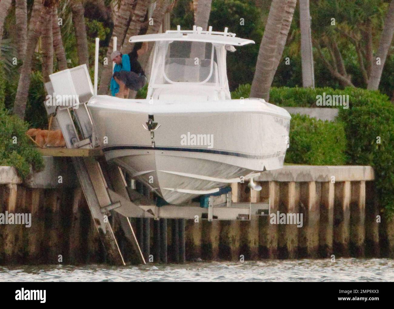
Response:
[[[15,169],[0,167],[0,213],[32,215],[31,227],[0,225],[0,264],[106,262],[71,161],[45,161],[46,170],[24,182]],[[371,167],[295,165],[262,173],[256,180],[260,192],[232,185],[233,202],[269,199],[271,213],[302,213],[302,227],[271,224],[269,216],[198,223],[134,218],[131,223],[147,262],[394,258],[394,221],[380,213],[373,180]],[[111,220],[126,261],[135,262],[116,218]]]

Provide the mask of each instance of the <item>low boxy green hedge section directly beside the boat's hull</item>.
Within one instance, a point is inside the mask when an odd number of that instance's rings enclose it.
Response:
[[[286,163],[344,165],[346,161],[346,137],[342,122],[292,115]]]

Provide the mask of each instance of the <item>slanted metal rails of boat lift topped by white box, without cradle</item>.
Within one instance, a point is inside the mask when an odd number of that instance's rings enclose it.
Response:
[[[51,74],[50,82],[45,84],[45,88],[47,93],[53,94],[56,101],[60,103],[60,106],[46,104],[46,109],[48,114],[56,114],[67,148],[94,148],[97,140],[86,107],[87,101],[93,96],[93,86],[86,65]],[[74,125],[74,121],[77,127]],[[128,217],[131,217],[130,210],[135,212],[132,214],[137,217],[149,216],[149,213],[145,215],[141,208],[128,199],[121,169],[112,169],[111,177],[106,180],[100,163],[94,157],[72,157],[71,159],[93,221],[110,260],[114,264],[125,265],[108,220],[108,216],[113,215],[120,221],[125,236],[132,243],[141,262],[146,264]],[[108,188],[108,181],[112,182],[112,188],[116,192]],[[126,216],[121,215],[122,212]]]

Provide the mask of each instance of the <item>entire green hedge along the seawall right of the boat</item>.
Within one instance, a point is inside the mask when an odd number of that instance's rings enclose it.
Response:
[[[342,145],[344,132],[346,164],[374,167],[375,187],[381,210],[392,215],[394,213],[394,105],[385,94],[352,87],[344,90],[273,87],[269,101],[279,106],[311,107],[316,105],[316,96],[323,95],[323,92],[326,95],[349,95],[349,108],[337,107],[339,117],[334,123],[318,124],[308,118],[293,116],[290,122],[290,148],[286,154],[286,161],[322,164],[322,160],[319,160],[320,151],[326,150],[328,152],[324,155],[327,156],[327,161],[332,161],[332,164],[343,164],[340,163],[344,160],[343,148],[335,145],[334,142],[338,139],[338,143]],[[249,93],[250,85],[241,85],[231,95],[235,99],[249,97]],[[307,129],[309,126],[310,128]],[[312,148],[312,143],[318,140],[315,134],[316,126],[319,127],[319,135],[322,135],[320,139],[325,140],[325,144]],[[324,137],[327,134],[331,134],[332,138]],[[303,145],[309,148],[303,150],[301,147]],[[335,155],[329,153],[330,149],[335,150]]]

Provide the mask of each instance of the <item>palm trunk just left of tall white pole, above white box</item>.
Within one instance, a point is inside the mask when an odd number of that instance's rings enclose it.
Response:
[[[79,64],[89,67],[89,52],[87,49],[87,36],[84,17],[84,6],[82,0],[72,0],[72,23],[75,27]]]

